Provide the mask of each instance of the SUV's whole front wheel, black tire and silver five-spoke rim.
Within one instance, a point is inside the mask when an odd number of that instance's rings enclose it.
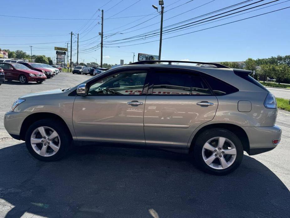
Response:
[[[30,154],[40,161],[55,161],[66,155],[71,136],[58,120],[43,119],[33,123],[25,135]]]

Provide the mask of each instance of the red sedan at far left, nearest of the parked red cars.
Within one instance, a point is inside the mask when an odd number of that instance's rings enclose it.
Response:
[[[44,73],[31,70],[21,63],[0,63],[0,68],[4,70],[5,79],[8,81],[18,80],[20,83],[37,82],[46,80]]]

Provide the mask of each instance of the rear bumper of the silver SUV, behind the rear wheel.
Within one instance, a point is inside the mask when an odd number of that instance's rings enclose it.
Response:
[[[281,139],[282,130],[278,126],[271,127],[242,127],[249,139],[249,155],[261,154],[276,148],[274,139]]]

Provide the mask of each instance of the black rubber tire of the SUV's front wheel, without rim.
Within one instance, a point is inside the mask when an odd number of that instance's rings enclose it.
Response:
[[[60,138],[61,143],[59,146],[59,150],[52,156],[45,157],[45,156],[39,155],[38,153],[34,151],[30,143],[30,137],[32,133],[34,132],[34,130],[42,126],[52,128],[53,130],[57,132]],[[61,159],[67,154],[69,147],[71,145],[71,141],[72,141],[71,134],[69,130],[64,126],[62,122],[60,122],[59,120],[53,120],[53,119],[42,119],[42,120],[36,121],[28,128],[25,134],[25,143],[26,143],[26,147],[29,153],[40,161],[56,161],[56,160]]]

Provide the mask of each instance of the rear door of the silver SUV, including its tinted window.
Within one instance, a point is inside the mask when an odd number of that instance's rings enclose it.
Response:
[[[186,147],[193,131],[214,118],[217,107],[199,73],[153,68],[144,109],[146,144]]]

